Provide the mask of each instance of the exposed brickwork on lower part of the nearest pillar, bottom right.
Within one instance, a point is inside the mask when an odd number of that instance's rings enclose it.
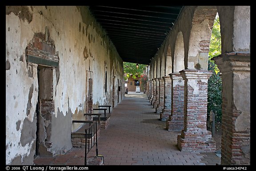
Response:
[[[240,111],[235,106],[228,108],[228,101],[223,98],[221,164],[250,165],[250,129],[237,132],[235,122]]]

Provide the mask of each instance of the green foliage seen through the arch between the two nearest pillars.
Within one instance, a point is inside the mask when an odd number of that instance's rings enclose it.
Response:
[[[212,27],[212,37],[209,49],[208,70],[212,70],[212,76],[208,80],[208,105],[207,117],[210,111],[215,113],[215,121],[221,122],[222,116],[222,80],[220,70],[211,58],[221,54],[220,19],[216,16]]]

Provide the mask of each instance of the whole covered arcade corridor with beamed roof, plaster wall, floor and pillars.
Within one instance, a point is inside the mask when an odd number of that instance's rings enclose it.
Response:
[[[6,165],[82,154],[72,133],[100,106],[114,109],[100,133],[106,165],[206,164],[201,152],[216,152],[206,125],[217,13],[220,164],[250,165],[250,6],[6,6]],[[147,97],[137,103],[125,97],[124,62],[148,65]],[[129,149],[136,154],[122,158]]]

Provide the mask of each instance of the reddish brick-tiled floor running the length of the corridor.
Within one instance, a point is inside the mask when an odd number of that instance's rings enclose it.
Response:
[[[117,105],[107,129],[100,130],[99,155],[104,165],[216,165],[215,153],[180,152],[179,132],[168,132],[165,121],[148,102],[146,94],[131,93]],[[96,155],[95,147],[88,156]],[[72,148],[65,155],[39,157],[36,165],[84,165],[84,149]]]

